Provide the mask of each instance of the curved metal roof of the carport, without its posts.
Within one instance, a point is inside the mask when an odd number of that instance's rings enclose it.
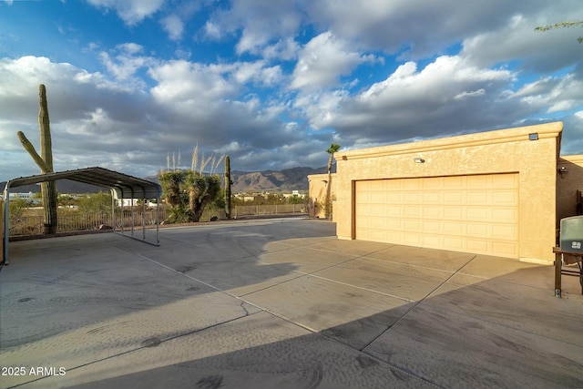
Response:
[[[71,179],[77,182],[96,185],[115,190],[118,199],[159,199],[162,189],[156,182],[138,179],[118,171],[104,168],[85,168],[36,176],[20,177],[6,182],[5,189],[37,184],[57,179]]]

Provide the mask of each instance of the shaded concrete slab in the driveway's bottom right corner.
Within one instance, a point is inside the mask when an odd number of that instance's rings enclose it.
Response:
[[[568,343],[560,327],[556,333],[539,336],[420,304],[364,351],[439,387],[583,387],[580,335]]]

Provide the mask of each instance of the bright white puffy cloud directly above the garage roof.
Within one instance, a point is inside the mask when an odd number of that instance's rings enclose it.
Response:
[[[459,56],[440,56],[421,70],[408,62],[354,96],[336,90],[314,99],[304,97],[301,108],[314,128],[335,128],[351,142],[390,142],[404,134],[435,137],[472,129],[475,123],[491,129],[504,120],[509,127],[527,111],[516,99],[505,97],[514,79],[508,70],[473,67]]]

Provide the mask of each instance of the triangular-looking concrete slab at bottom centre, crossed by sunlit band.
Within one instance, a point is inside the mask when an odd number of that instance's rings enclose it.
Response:
[[[433,387],[267,312],[68,371],[66,380],[84,389]]]

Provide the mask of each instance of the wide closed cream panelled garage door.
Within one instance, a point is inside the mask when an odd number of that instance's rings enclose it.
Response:
[[[518,174],[355,183],[356,239],[518,257]]]

